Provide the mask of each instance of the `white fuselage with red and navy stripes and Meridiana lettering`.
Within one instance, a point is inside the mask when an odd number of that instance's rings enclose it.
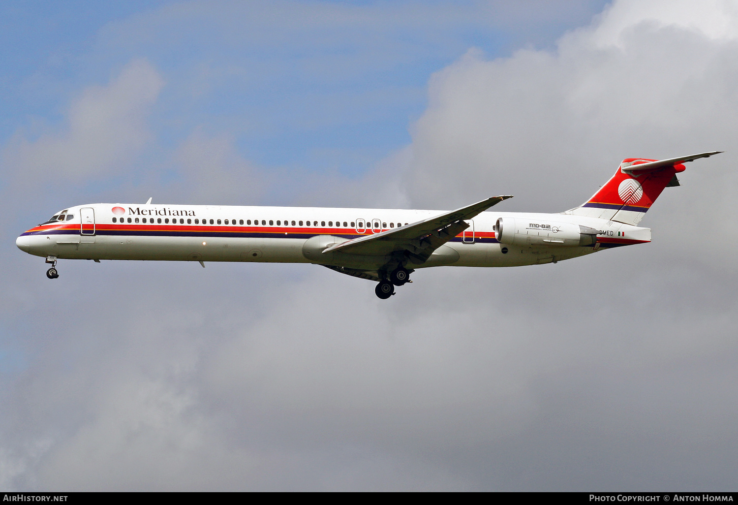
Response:
[[[152,261],[261,261],[336,264],[306,253],[306,241],[330,236],[341,242],[437,216],[438,210],[320,207],[241,207],[208,205],[94,204],[70,207],[64,221],[38,225],[16,243],[21,250],[58,259]],[[66,219],[67,216],[72,216]],[[520,224],[514,242],[500,243],[497,219]],[[616,221],[568,213],[504,213],[490,210],[466,221],[469,228],[445,247],[458,253],[413,268],[452,264],[463,267],[514,267],[544,264],[650,241],[650,230]],[[523,225],[522,223],[525,223]],[[546,224],[548,223],[548,224]],[[551,235],[561,224],[598,230],[590,247],[570,246]],[[531,226],[529,227],[528,224]],[[549,230],[549,231],[546,231]],[[622,236],[621,236],[622,234]],[[553,235],[551,235],[553,236]],[[622,238],[621,238],[622,237]],[[376,268],[381,259],[352,259],[352,268]],[[362,263],[363,262],[363,263]]]

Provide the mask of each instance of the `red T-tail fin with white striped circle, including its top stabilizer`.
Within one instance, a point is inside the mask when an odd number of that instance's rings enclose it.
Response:
[[[683,163],[708,158],[723,151],[693,154],[670,159],[627,158],[615,175],[581,207],[567,213],[575,216],[610,219],[625,224],[638,224],[653,202],[669,186],[678,186],[677,175],[685,170]]]

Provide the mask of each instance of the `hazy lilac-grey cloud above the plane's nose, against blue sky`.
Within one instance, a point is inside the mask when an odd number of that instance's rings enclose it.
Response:
[[[151,141],[147,118],[163,86],[151,63],[131,61],[108,85],[90,86],[73,100],[60,128],[15,134],[4,158],[29,182],[107,176]]]

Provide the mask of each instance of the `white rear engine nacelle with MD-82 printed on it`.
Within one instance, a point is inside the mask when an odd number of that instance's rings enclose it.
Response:
[[[540,219],[500,218],[494,225],[498,242],[509,245],[551,247],[593,246],[598,230],[582,224]]]

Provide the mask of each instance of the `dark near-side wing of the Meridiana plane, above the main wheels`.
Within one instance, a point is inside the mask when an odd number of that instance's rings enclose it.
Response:
[[[493,196],[469,207],[452,210],[407,224],[394,230],[387,230],[376,235],[368,235],[328,247],[323,253],[341,252],[346,254],[382,256],[395,252],[407,251],[421,261],[427,260],[432,252],[469,227],[465,219],[472,219],[477,214],[489,209],[511,195]]]

